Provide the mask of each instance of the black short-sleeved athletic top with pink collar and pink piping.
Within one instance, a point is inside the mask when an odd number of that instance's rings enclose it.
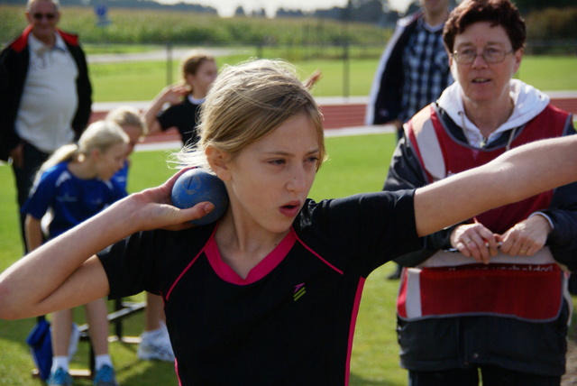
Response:
[[[422,248],[413,191],[308,200],[246,279],[223,262],[215,224],[133,234],[99,253],[110,298],[165,302],[182,385],[343,385],[369,273]]]

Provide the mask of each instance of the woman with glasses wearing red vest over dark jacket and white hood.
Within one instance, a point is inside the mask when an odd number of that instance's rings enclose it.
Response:
[[[465,0],[444,44],[455,83],[404,127],[384,189],[418,188],[523,143],[574,133],[572,115],[513,79],[526,25],[509,0]],[[567,167],[573,167],[567,165]],[[577,268],[577,185],[426,237],[400,259],[398,341],[409,385],[559,385]]]

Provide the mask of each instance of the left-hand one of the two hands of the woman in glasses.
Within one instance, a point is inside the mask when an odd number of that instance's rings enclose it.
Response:
[[[451,234],[451,245],[465,256],[489,264],[490,257],[499,253],[499,235],[480,223],[458,225]]]

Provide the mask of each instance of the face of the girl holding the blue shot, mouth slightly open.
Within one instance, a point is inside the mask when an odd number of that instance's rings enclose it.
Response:
[[[221,176],[235,224],[286,232],[305,203],[318,163],[315,126],[304,114],[246,146],[225,162]]]

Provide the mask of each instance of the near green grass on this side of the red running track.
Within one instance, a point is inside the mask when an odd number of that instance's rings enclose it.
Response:
[[[390,155],[395,143],[394,134],[372,134],[353,137],[327,138],[330,159],[319,171],[310,197],[337,198],[364,191],[380,190],[385,179]],[[135,152],[129,181],[129,190],[155,186],[174,171],[167,167],[168,152]],[[0,271],[21,255],[17,233],[14,180],[9,166],[0,165],[0,180],[5,188],[0,191]],[[398,367],[398,345],[395,335],[395,298],[397,282],[385,280],[393,269],[387,264],[373,272],[365,286],[360,316],[356,329],[352,385],[406,384],[406,374]],[[33,289],[33,283],[31,283]],[[142,299],[139,296],[138,299]],[[78,320],[84,312],[78,308]],[[41,385],[32,379],[32,358],[25,338],[35,320],[0,321],[0,384]],[[135,315],[124,324],[128,335],[139,335],[142,315]],[[158,386],[177,384],[172,363],[143,362],[136,357],[135,345],[112,343],[110,351],[116,366],[118,381],[123,386]],[[79,345],[73,368],[87,366],[87,344]],[[91,384],[79,380],[78,385]]]

